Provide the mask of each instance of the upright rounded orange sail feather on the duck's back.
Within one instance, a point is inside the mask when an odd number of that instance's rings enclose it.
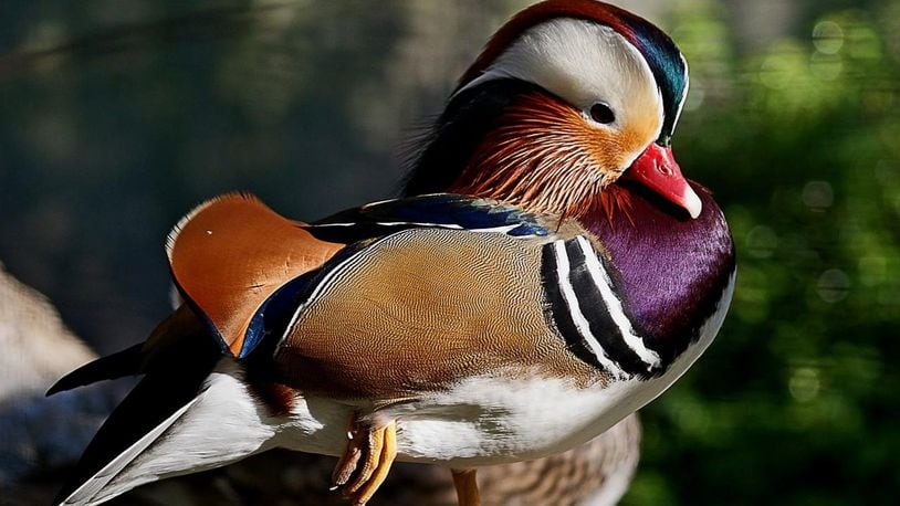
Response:
[[[297,224],[252,197],[229,194],[197,208],[170,234],[176,283],[232,354],[241,349],[263,301],[344,246],[320,241]]]

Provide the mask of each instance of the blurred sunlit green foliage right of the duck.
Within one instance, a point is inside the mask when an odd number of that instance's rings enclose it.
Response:
[[[900,495],[900,2],[818,13],[740,54],[677,12],[682,168],[739,251],[716,344],[643,410],[626,504],[896,504]]]

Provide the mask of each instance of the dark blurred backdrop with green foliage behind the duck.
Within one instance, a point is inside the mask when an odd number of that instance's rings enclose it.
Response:
[[[181,214],[395,194],[406,140],[527,3],[3,0],[0,261],[97,350],[136,342]],[[625,504],[894,504],[900,0],[618,3],[687,55],[676,154],[740,257],[718,341],[643,410]]]

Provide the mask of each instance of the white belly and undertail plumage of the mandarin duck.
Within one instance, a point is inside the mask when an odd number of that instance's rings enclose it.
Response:
[[[672,384],[700,357],[722,325],[732,276],[700,339],[659,378],[619,380],[578,389],[550,378],[480,376],[415,402],[378,411],[374,422],[397,422],[398,460],[451,467],[538,458],[584,443]],[[341,455],[348,402],[300,398],[289,417],[272,418],[222,359],[201,393],[76,489],[64,505],[104,503],[135,486],[222,466],[272,447]]]

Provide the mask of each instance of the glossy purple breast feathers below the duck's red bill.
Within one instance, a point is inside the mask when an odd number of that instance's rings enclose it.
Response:
[[[619,209],[579,219],[606,247],[635,329],[664,362],[700,337],[734,272],[724,215],[708,191],[694,189],[703,202],[694,220],[629,188],[618,188]]]

